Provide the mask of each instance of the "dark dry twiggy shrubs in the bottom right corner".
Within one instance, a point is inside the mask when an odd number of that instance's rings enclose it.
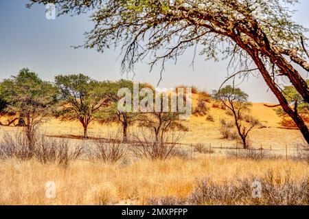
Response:
[[[287,172],[285,177],[268,172],[266,176],[215,183],[207,178],[196,183],[189,203],[194,205],[308,205],[308,175],[293,181]],[[253,182],[262,185],[262,197],[253,198]]]

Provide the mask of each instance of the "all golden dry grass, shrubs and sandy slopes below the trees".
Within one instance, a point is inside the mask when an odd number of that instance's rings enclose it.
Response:
[[[75,122],[51,119],[30,154],[19,128],[1,127],[0,204],[308,205],[308,147],[295,145],[297,130],[276,128],[279,119],[255,104],[271,128],[255,128],[253,149],[236,150],[236,140],[220,135],[220,119],[229,115],[207,106],[211,114],[192,117],[185,122],[190,131],[168,135],[168,144],[134,135],[123,144],[108,134],[115,124],[93,124],[91,138],[81,140]],[[56,198],[45,195],[48,181],[56,183]],[[262,198],[251,197],[253,181],[262,183]]]

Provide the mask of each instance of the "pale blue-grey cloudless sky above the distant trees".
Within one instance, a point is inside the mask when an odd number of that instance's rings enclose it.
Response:
[[[0,80],[16,75],[23,67],[36,71],[49,81],[59,73],[84,73],[96,80],[133,78],[133,75],[120,73],[119,51],[109,49],[100,54],[95,50],[71,47],[81,45],[84,32],[93,26],[87,14],[47,20],[43,5],[27,9],[26,3],[26,0],[0,0]],[[295,21],[309,27],[309,1],[301,0],[295,9]],[[159,87],[194,84],[207,91],[218,89],[227,76],[227,62],[206,62],[203,56],[196,56],[193,71],[190,67],[192,57],[190,50],[176,65],[169,62]],[[149,66],[141,63],[135,69],[134,80],[156,85],[159,71],[158,67],[150,73]],[[240,87],[249,94],[252,102],[276,102],[261,77],[251,77]]]

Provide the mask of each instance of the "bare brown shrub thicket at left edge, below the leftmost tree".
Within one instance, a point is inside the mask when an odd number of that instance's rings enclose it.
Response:
[[[16,132],[13,137],[5,133],[0,143],[0,159],[36,159],[43,164],[68,165],[83,154],[83,146],[76,146],[73,150],[69,148],[69,141],[63,139],[58,141],[47,139],[43,135],[33,135],[32,142],[29,143],[23,132]]]

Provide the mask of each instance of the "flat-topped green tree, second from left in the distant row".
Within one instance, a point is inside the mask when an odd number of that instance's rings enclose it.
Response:
[[[56,76],[55,82],[60,100],[56,116],[67,121],[78,120],[84,128],[84,139],[88,139],[89,124],[98,119],[106,105],[105,83],[82,74]]]

